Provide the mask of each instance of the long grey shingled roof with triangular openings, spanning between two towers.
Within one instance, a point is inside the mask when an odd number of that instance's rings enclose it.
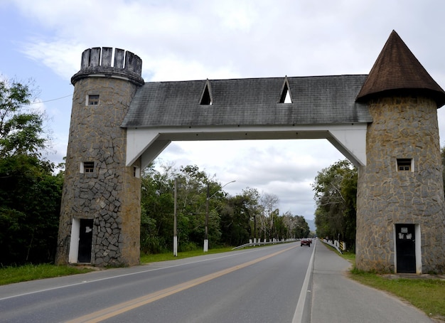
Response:
[[[287,77],[291,103],[280,103],[285,78],[149,82],[137,90],[122,127],[372,122],[368,106],[355,102],[365,78]]]

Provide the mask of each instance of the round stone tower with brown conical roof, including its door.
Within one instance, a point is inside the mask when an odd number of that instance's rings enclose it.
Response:
[[[437,108],[445,92],[393,31],[359,102],[372,120],[359,169],[356,265],[445,272],[444,186]]]

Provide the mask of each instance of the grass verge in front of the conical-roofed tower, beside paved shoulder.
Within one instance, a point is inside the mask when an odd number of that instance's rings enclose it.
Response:
[[[344,253],[341,257],[350,261],[353,265],[355,264],[354,253]],[[395,277],[394,275],[363,272],[355,268],[350,271],[349,275],[351,279],[363,285],[395,295],[417,307],[431,319],[445,322],[445,280],[441,280],[439,276],[431,276],[433,278],[419,276]]]

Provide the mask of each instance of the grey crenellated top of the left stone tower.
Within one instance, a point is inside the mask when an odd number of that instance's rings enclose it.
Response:
[[[113,64],[112,55],[111,47],[94,47],[83,51],[80,71],[73,75],[71,83],[75,85],[82,78],[94,77],[121,78],[136,85],[144,85],[144,79],[141,77],[142,60],[138,55],[116,48]]]

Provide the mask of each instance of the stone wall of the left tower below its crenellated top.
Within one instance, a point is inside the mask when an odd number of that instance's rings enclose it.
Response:
[[[139,263],[140,179],[126,162],[126,129],[119,127],[137,86],[118,78],[77,80],[66,159],[57,263],[68,263],[73,218],[94,220],[92,265]],[[85,105],[100,95],[99,105]],[[82,162],[95,162],[80,174]]]

